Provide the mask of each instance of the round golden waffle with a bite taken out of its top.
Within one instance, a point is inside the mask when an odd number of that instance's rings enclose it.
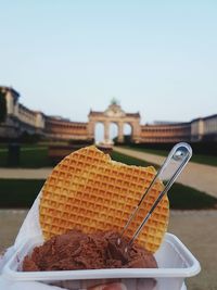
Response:
[[[44,239],[72,228],[87,234],[122,231],[155,174],[152,166],[114,162],[94,146],[73,152],[54,167],[42,188],[39,219]],[[158,180],[145,197],[127,237],[132,237],[163,187]],[[137,239],[142,247],[151,252],[158,249],[168,215],[165,196]]]

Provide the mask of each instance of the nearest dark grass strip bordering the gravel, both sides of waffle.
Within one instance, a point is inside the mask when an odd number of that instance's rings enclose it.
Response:
[[[0,207],[30,207],[44,180],[0,179]],[[168,192],[170,207],[176,210],[216,209],[217,199],[193,188],[175,184]]]

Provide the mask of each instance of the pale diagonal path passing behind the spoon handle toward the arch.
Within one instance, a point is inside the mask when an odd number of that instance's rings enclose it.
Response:
[[[114,151],[144,160],[150,164],[162,165],[165,157],[131,149],[114,148]],[[190,162],[177,179],[178,182],[207,192],[217,198],[217,167]]]

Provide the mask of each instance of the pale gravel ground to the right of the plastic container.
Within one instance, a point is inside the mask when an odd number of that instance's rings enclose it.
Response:
[[[217,289],[217,211],[173,211],[168,231],[201,263],[201,273],[187,279],[188,290]]]

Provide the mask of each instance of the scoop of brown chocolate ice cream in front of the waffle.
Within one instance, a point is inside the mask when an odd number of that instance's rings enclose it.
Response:
[[[72,270],[102,268],[155,268],[152,253],[133,243],[125,252],[127,238],[117,245],[117,232],[80,230],[55,236],[25,256],[23,270]]]

